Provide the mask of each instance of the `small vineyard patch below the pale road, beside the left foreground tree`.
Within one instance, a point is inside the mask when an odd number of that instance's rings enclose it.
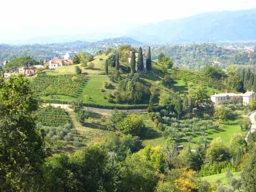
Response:
[[[64,126],[70,124],[67,112],[60,107],[43,107],[36,111],[37,123],[44,126]]]

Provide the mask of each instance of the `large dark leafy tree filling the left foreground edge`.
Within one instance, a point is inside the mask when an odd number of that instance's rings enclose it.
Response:
[[[31,116],[37,107],[28,79],[0,79],[1,191],[28,191],[42,174],[45,133],[36,129]]]

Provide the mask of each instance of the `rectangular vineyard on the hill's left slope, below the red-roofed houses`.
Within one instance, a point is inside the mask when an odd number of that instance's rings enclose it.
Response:
[[[38,95],[77,97],[85,82],[84,75],[38,75],[31,81],[31,89]]]

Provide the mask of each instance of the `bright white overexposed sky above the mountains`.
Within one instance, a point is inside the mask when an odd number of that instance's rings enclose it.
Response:
[[[8,0],[0,43],[38,36],[122,33],[147,23],[256,8],[255,0]]]

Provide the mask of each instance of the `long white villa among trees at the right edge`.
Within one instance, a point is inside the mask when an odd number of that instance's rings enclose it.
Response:
[[[211,95],[212,102],[215,105],[222,105],[225,103],[243,103],[243,105],[249,105],[252,100],[256,99],[256,93],[253,91],[247,91],[246,93],[219,93]]]

